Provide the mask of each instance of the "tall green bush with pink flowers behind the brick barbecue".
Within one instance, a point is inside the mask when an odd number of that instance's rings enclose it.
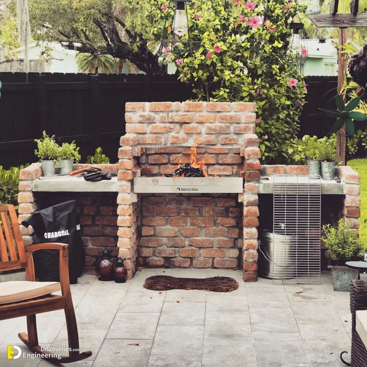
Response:
[[[152,16],[163,21],[170,9],[162,10],[162,1],[152,2],[157,3]],[[192,86],[197,100],[256,102],[262,161],[287,163],[306,85],[298,66],[287,62],[284,54],[290,40],[288,20],[302,5],[286,0],[248,5],[243,0],[196,0],[188,14],[189,23],[195,23],[189,32],[190,39],[198,42],[195,51],[174,49],[166,55],[176,60],[180,80]],[[154,24],[161,35],[160,22]],[[164,37],[170,37],[170,30],[165,32]]]

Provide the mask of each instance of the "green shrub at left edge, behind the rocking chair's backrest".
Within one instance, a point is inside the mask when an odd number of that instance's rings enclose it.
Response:
[[[12,204],[16,208],[18,207],[18,185],[19,185],[19,172],[29,164],[19,167],[10,167],[8,170],[4,170],[0,166],[0,203]]]

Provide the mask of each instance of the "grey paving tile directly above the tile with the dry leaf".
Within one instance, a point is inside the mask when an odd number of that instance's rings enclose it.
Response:
[[[159,313],[118,312],[106,338],[154,339],[159,316]]]

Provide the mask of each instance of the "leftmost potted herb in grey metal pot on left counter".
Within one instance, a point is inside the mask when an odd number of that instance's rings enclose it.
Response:
[[[45,131],[41,139],[36,139],[37,149],[34,154],[40,159],[43,176],[55,175],[55,163],[58,159],[60,146],[55,142],[55,136],[49,137]]]

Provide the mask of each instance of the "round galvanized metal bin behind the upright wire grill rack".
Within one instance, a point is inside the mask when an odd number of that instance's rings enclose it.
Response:
[[[258,272],[264,278],[293,279],[297,264],[292,252],[295,250],[296,236],[274,234],[263,230],[259,240]],[[273,262],[273,259],[278,259]]]

